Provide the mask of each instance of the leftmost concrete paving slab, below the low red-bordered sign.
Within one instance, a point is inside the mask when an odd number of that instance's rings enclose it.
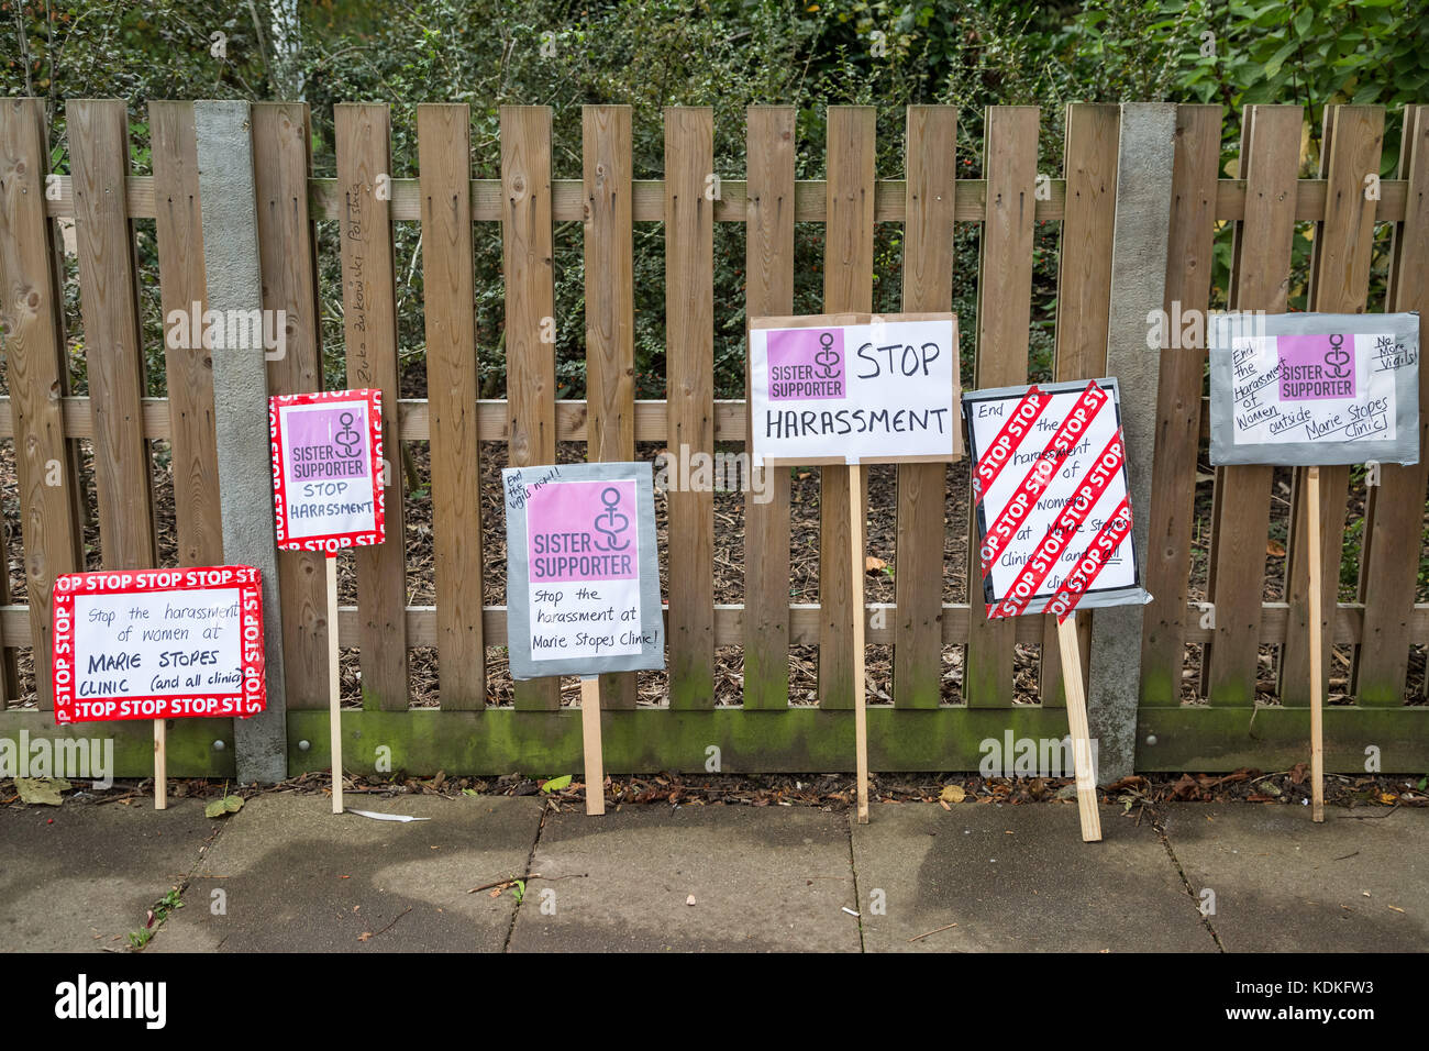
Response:
[[[0,809],[0,952],[127,948],[213,832],[193,799]]]

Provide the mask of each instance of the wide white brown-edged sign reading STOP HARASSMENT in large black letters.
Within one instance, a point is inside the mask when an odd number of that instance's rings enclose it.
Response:
[[[957,459],[957,317],[753,319],[749,402],[756,466]]]

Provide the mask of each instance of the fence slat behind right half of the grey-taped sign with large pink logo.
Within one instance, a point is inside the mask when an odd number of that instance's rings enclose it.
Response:
[[[586,456],[634,459],[634,226],[629,106],[584,106]],[[634,708],[634,672],[600,676],[603,708]]]

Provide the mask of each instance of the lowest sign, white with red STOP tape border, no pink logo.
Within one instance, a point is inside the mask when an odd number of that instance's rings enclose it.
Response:
[[[54,721],[247,718],[267,705],[253,566],[54,581]]]

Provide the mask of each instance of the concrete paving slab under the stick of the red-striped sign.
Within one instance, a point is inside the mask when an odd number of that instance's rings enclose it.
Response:
[[[1213,952],[1149,821],[1102,808],[1083,844],[1075,805],[883,804],[853,827],[870,952]],[[873,908],[883,891],[885,915]],[[947,924],[957,927],[910,942]]]

